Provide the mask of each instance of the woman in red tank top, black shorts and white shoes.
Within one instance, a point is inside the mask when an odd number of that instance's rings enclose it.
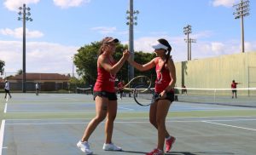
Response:
[[[112,141],[113,121],[117,114],[117,95],[114,88],[115,75],[129,58],[130,53],[126,49],[119,61],[113,60],[113,53],[119,43],[117,38],[105,37],[102,40],[97,59],[97,79],[93,89],[94,100],[96,100],[96,117],[93,118],[84,130],[84,135],[77,146],[82,152],[92,154],[88,143],[90,135],[106,117],[105,123],[105,151],[121,151],[122,148],[115,146]]]

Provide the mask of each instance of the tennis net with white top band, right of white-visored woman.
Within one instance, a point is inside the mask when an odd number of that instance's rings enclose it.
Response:
[[[177,96],[177,101],[181,101],[181,102],[210,103],[210,104],[223,105],[223,106],[256,107],[256,88],[242,88],[242,89],[175,88],[175,94]]]

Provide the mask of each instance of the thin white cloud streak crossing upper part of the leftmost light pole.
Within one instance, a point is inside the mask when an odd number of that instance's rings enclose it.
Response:
[[[15,38],[22,38],[23,37],[23,28],[19,27],[15,30],[11,30],[9,28],[0,29],[0,34],[5,36],[11,36]],[[36,37],[43,37],[44,33],[38,31],[29,31],[26,29],[26,37],[27,38],[36,38]]]

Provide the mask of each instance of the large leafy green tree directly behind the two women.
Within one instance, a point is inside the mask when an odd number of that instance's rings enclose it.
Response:
[[[100,49],[100,46],[100,42],[84,45],[84,47],[78,49],[78,53],[73,56],[73,63],[77,68],[77,72],[87,84],[96,83],[96,61],[98,58],[98,50]],[[128,45],[118,44],[116,47],[116,51],[113,54],[113,58],[115,60],[119,60],[122,57],[123,51],[125,49],[128,49]],[[140,64],[147,63],[153,58],[154,54],[143,53],[142,51],[135,52],[135,60]],[[152,77],[154,74],[154,70],[150,70],[147,72],[139,72],[135,70],[134,75],[146,75],[148,77]],[[116,78],[128,82],[128,62],[125,62],[125,65],[120,69],[119,73],[116,75]]]

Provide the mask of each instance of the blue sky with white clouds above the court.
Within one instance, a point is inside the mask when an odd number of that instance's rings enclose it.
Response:
[[[241,53],[241,20],[234,4],[240,0],[133,0],[138,10],[135,51],[153,52],[152,43],[166,38],[174,62],[188,59],[183,27],[192,26],[192,60]],[[72,57],[85,44],[117,37],[129,41],[129,0],[3,0],[0,3],[0,60],[7,75],[22,69],[22,20],[26,3],[26,72],[72,73]],[[245,51],[256,52],[256,0],[244,18]],[[75,72],[75,71],[74,71]]]

